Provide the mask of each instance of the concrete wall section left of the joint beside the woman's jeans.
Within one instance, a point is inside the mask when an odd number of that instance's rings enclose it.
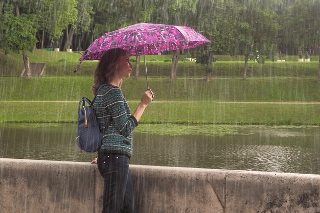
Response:
[[[85,163],[0,158],[5,212],[94,212],[95,168]]]

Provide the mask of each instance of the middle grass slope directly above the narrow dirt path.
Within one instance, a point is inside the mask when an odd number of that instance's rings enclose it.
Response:
[[[92,98],[93,77],[0,78],[3,101],[76,101]],[[318,102],[320,82],[315,78],[149,78],[156,101],[255,101]],[[145,78],[124,79],[122,90],[128,101],[139,101]]]

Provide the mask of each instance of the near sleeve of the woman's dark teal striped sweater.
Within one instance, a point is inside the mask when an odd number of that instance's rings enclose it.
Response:
[[[127,116],[124,105],[124,97],[119,87],[112,87],[104,94],[106,108],[108,108],[112,120],[118,131],[127,137],[133,129],[138,126],[138,122],[133,115]]]

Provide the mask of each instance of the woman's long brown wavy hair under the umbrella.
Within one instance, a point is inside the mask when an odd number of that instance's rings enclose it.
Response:
[[[94,85],[92,90],[94,95],[97,93],[100,86],[103,84],[110,83],[113,76],[117,70],[117,61],[118,59],[126,55],[128,52],[126,50],[116,48],[107,50],[101,57],[99,64],[95,70],[94,75]]]

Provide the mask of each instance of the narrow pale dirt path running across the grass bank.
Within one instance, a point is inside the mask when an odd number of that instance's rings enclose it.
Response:
[[[140,101],[128,101],[139,103]],[[153,101],[153,103],[221,103],[221,104],[320,104],[320,102],[233,102],[233,101]],[[0,101],[0,103],[79,103],[79,101]]]

